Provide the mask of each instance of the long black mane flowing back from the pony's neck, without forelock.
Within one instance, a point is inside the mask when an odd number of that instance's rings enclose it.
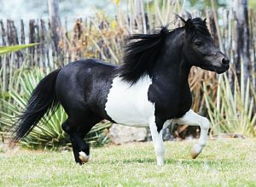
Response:
[[[162,27],[156,34],[135,34],[126,37],[124,64],[117,68],[119,77],[132,85],[143,75],[150,76],[167,33],[169,30]]]

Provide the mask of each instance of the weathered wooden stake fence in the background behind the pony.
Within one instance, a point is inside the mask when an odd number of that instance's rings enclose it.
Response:
[[[237,46],[236,41],[241,36],[237,30],[237,26],[240,25],[236,19],[236,12],[233,10],[218,11],[218,24],[208,10],[205,13],[197,12],[196,14],[204,14],[207,17],[207,24],[214,41],[230,56],[231,63],[234,66],[238,62],[241,63],[242,59],[237,58],[240,55],[238,50],[241,47]],[[34,48],[27,48],[15,53],[13,56],[15,64],[12,65],[17,68],[23,63],[31,67],[37,65],[55,68],[75,59],[88,57],[100,58],[116,64],[121,61],[124,35],[129,34],[131,30],[149,31],[157,25],[160,26],[156,15],[144,14],[145,28],[140,27],[141,17],[142,15],[133,16],[133,20],[131,20],[129,17],[117,16],[116,20],[109,21],[107,18],[96,16],[75,20],[72,29],[67,28],[67,20],[65,20],[58,31],[61,37],[57,46],[52,39],[49,20],[29,20],[27,24],[24,20],[20,20],[20,23],[14,20],[0,20],[0,45],[40,42],[40,45]],[[249,64],[245,68],[250,72],[255,86],[256,12],[253,10],[248,12],[247,29],[247,35],[242,36],[243,40],[248,41]],[[10,55],[7,55],[5,60],[7,66],[11,65]],[[3,57],[0,59],[0,66],[2,63]]]

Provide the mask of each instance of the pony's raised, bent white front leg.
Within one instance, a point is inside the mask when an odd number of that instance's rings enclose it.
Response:
[[[201,133],[197,144],[191,150],[193,159],[201,153],[201,150],[207,144],[207,133],[210,127],[210,122],[206,117],[196,114],[194,111],[189,110],[183,117],[174,120],[178,124],[186,124],[191,126],[200,126]]]

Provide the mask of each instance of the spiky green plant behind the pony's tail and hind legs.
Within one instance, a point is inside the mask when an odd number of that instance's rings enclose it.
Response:
[[[2,94],[2,111],[0,111],[0,123],[4,129],[12,127],[15,124],[15,116],[20,115],[20,111],[25,109],[26,102],[29,99],[33,88],[38,82],[49,73],[42,69],[35,68],[33,70],[26,70],[21,68],[16,70],[11,77],[12,81],[9,84],[9,92]],[[61,123],[67,119],[67,114],[60,107],[51,117],[39,122],[37,127],[34,127],[21,144],[26,147],[49,147],[55,148],[61,145],[66,145],[69,142],[67,134],[61,129]],[[101,145],[108,141],[104,130],[110,127],[109,122],[99,123],[92,128],[87,136],[90,143]]]

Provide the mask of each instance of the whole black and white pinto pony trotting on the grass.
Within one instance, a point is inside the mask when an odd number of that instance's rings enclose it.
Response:
[[[180,18],[183,20],[183,18]],[[15,125],[15,140],[26,136],[42,117],[61,104],[67,112],[62,128],[70,136],[75,161],[89,160],[84,136],[103,119],[150,128],[158,165],[164,163],[162,132],[172,121],[200,126],[192,158],[206,145],[210,122],[190,109],[189,71],[195,65],[223,73],[230,60],[213,44],[206,20],[183,20],[173,31],[136,34],[125,40],[123,65],[81,59],[49,73],[32,92]]]

